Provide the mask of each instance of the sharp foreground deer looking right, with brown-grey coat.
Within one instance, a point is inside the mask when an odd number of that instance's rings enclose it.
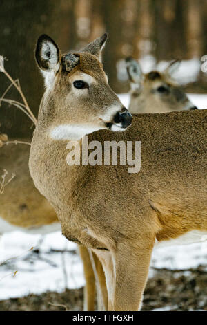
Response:
[[[155,242],[207,232],[207,115],[140,114],[130,126],[131,116],[108,86],[100,62],[105,41],[103,35],[77,53],[61,55],[50,37],[39,37],[36,58],[46,91],[29,166],[66,238],[99,257],[108,310],[138,310]],[[86,135],[89,143],[102,145],[141,141],[139,173],[129,174],[126,165],[68,165],[68,145],[75,140],[81,146]]]

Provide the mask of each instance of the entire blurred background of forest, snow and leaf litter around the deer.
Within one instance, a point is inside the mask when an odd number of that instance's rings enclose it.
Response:
[[[34,46],[43,33],[66,52],[108,32],[104,69],[126,106],[130,86],[125,57],[139,59],[144,72],[181,59],[179,83],[204,108],[207,73],[201,71],[201,57],[207,55],[206,21],[206,0],[1,0],[0,55],[8,73],[19,79],[36,116],[44,87]],[[0,73],[0,97],[9,84]],[[21,100],[14,87],[7,97]],[[0,121],[1,132],[9,137],[32,136],[32,122],[13,106],[1,103]],[[76,245],[61,232],[3,235],[0,310],[81,310],[83,285]],[[153,252],[142,310],[207,310],[206,243]]]

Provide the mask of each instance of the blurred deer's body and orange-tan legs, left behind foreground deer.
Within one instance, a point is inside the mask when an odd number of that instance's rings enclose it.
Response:
[[[21,230],[31,234],[47,234],[61,230],[57,214],[50,203],[44,198],[34,187],[33,180],[28,169],[28,160],[30,154],[30,146],[18,143],[7,142],[6,135],[0,135],[2,147],[0,148],[0,176],[6,171],[5,182],[14,178],[2,187],[0,194],[0,237],[1,234]],[[10,139],[12,142],[14,139]],[[29,142],[28,139],[21,139]],[[0,186],[1,188],[1,186]],[[84,275],[86,279],[84,293],[84,308],[86,310],[94,310],[95,308],[95,269],[92,268],[91,257],[88,250],[81,246],[79,248],[81,259],[83,261]],[[101,284],[101,293],[99,299],[103,295],[106,304],[106,284],[101,263],[94,256],[97,276]],[[97,281],[97,279],[96,279]],[[99,301],[99,308],[102,301]]]

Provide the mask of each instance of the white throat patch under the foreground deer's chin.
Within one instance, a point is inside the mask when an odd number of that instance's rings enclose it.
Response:
[[[61,124],[50,131],[53,140],[80,140],[83,136],[103,129],[97,126],[81,124]]]

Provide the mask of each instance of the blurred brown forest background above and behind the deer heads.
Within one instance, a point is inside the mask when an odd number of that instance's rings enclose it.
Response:
[[[6,69],[14,79],[19,78],[36,116],[43,81],[34,62],[34,45],[42,33],[66,52],[108,32],[104,68],[117,93],[129,89],[125,57],[142,59],[147,66],[162,60],[194,59],[187,80],[196,81],[190,91],[200,93],[206,89],[205,74],[199,69],[201,57],[207,55],[206,21],[206,0],[1,0],[0,55],[8,59]],[[2,93],[8,86],[2,74],[0,84]],[[2,118],[2,131],[10,136],[31,135],[21,111],[2,108]]]

